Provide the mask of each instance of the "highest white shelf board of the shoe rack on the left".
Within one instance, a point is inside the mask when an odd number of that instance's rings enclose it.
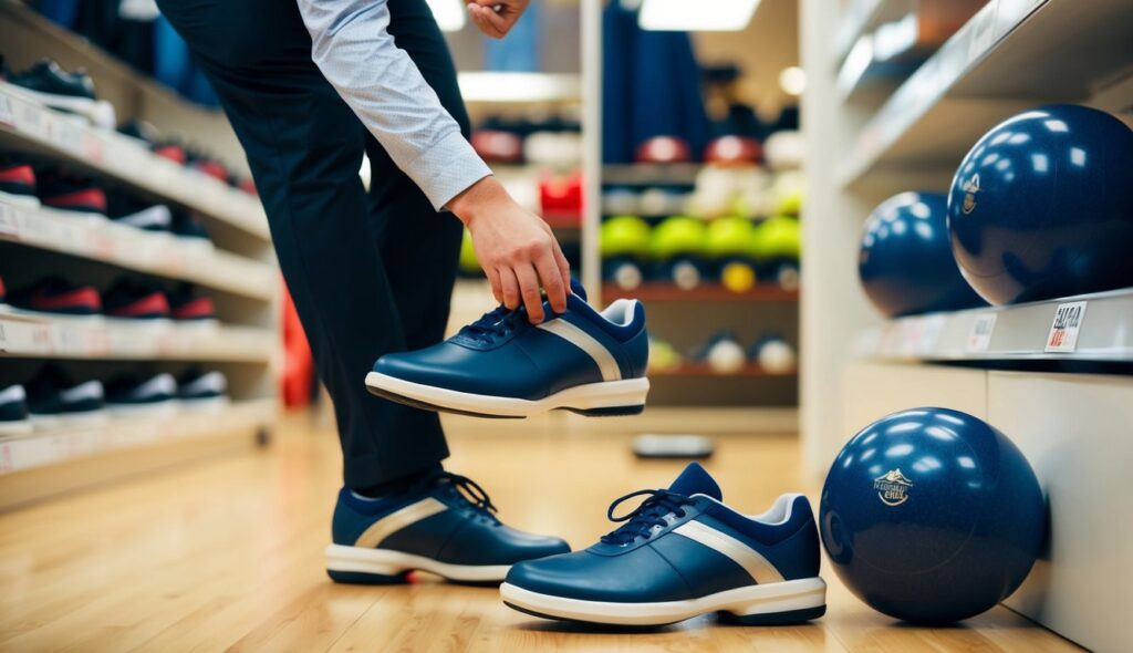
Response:
[[[203,172],[157,156],[142,142],[26,100],[0,82],[0,149],[63,158],[263,239],[259,200]]]

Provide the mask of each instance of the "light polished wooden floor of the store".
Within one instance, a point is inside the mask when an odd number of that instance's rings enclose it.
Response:
[[[305,424],[305,423],[304,423]],[[945,629],[895,624],[824,570],[829,610],[809,626],[699,618],[647,633],[543,621],[493,588],[432,578],[334,585],[322,550],[339,484],[330,433],[284,429],[267,449],[0,516],[0,651],[1066,651],[1005,608]],[[482,430],[478,430],[482,431]],[[491,432],[489,432],[491,433]],[[799,487],[794,440],[718,440],[708,464],[732,506],[761,511]],[[512,525],[578,548],[610,529],[608,501],[663,486],[625,435],[458,432],[449,468],[477,480]]]

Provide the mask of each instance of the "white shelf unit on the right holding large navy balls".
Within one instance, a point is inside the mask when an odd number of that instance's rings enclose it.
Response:
[[[855,25],[906,5],[850,1],[840,12],[824,0],[801,2],[807,468],[820,478],[858,430],[897,409],[946,406],[988,419],[1034,466],[1055,534],[1007,603],[1088,648],[1121,650],[1124,613],[1097,588],[1133,583],[1130,553],[1101,550],[1075,525],[1083,515],[1133,510],[1124,461],[1111,453],[1127,449],[1124,426],[1133,423],[1133,378],[1125,372],[1133,290],[885,321],[861,290],[858,252],[864,219],[880,201],[945,190],[976,141],[1017,111],[1071,102],[1128,121],[1133,6],[990,0],[892,95],[850,105],[836,87],[845,56],[840,29],[860,32]],[[847,7],[864,8],[867,17]],[[1075,347],[1054,350],[1056,311],[1082,302]]]

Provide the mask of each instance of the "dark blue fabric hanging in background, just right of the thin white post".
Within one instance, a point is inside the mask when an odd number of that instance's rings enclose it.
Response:
[[[699,156],[712,135],[700,66],[685,32],[648,32],[612,1],[603,14],[603,161],[627,163],[644,141],[678,136]]]

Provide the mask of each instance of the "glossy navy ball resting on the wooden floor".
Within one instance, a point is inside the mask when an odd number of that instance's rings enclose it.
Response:
[[[897,619],[945,624],[1022,584],[1046,508],[1003,433],[947,408],[894,413],[834,460],[819,506],[823,545],[843,583]]]

